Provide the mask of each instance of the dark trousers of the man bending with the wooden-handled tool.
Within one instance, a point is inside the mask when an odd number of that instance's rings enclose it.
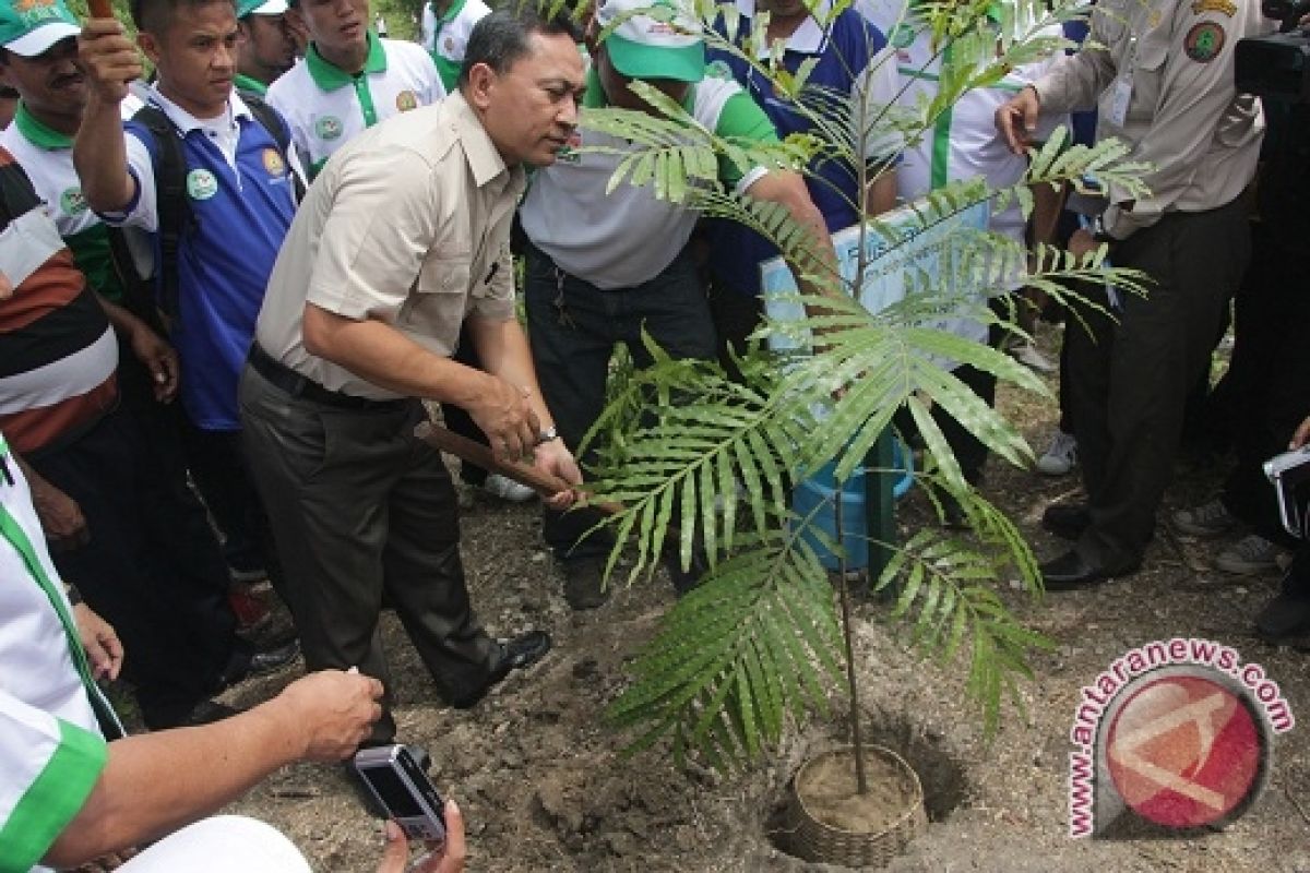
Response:
[[[464,585],[455,487],[414,437],[418,401],[345,410],[241,376],[241,435],[282,558],[309,670],[358,666],[386,688],[371,739],[396,734],[377,618],[383,592],[447,699],[486,685],[499,654]]]

